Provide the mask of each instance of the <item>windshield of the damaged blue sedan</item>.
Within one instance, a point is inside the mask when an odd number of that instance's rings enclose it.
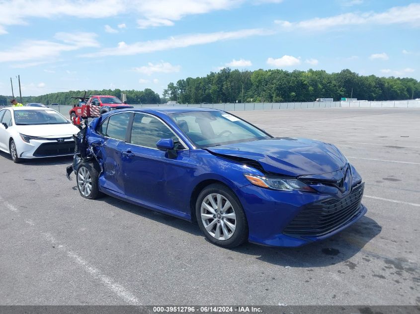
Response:
[[[199,148],[271,137],[255,126],[221,111],[175,113],[170,117]]]

